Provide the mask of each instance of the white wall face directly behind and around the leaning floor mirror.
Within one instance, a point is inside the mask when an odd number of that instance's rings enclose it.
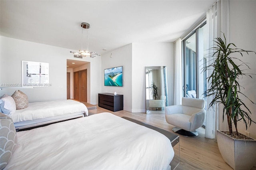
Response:
[[[166,66],[168,101],[173,105],[174,44],[132,43],[132,112],[146,113],[145,67]]]

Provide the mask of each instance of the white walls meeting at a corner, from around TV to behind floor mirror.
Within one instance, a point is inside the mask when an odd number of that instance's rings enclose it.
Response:
[[[104,69],[123,66],[123,87],[102,84],[102,93],[124,95],[124,110],[146,113],[145,67],[167,66],[169,105],[173,104],[173,43],[132,43],[102,56]],[[112,53],[112,58],[110,55]],[[104,75],[102,75],[104,80]]]

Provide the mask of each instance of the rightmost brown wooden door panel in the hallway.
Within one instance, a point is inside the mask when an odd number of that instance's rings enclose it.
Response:
[[[87,70],[80,71],[80,101],[87,102]]]

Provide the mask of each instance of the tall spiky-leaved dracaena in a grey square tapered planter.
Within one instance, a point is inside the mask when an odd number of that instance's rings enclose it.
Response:
[[[224,40],[216,38],[214,43],[215,46],[209,49],[214,52],[206,57],[212,63],[204,67],[203,71],[212,71],[207,78],[210,88],[207,90],[206,96],[212,97],[209,106],[223,105],[223,121],[226,117],[228,122],[228,131],[217,130],[218,147],[224,161],[234,170],[249,170],[256,162],[256,140],[239,133],[237,122],[242,121],[246,129],[251,123],[256,123],[250,118],[252,114],[250,109],[240,98],[242,96],[254,103],[240,91],[243,87],[239,84],[239,79],[242,76],[252,78],[252,74],[244,73],[242,68],[250,68],[236,55],[243,56],[243,53],[255,53],[255,51],[236,48],[234,43],[226,44],[225,35]],[[232,124],[234,124],[236,131],[233,131]]]

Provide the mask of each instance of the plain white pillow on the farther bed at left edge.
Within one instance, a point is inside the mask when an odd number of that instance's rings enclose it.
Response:
[[[12,113],[16,111],[16,103],[14,99],[6,94],[0,98],[0,107],[2,109],[2,113],[8,116],[12,115]]]

